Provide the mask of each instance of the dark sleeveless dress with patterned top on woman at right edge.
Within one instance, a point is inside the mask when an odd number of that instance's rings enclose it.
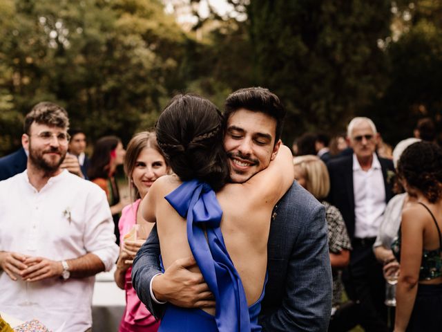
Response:
[[[422,252],[419,280],[431,280],[442,276],[442,235],[434,214],[425,204],[420,202],[419,204],[430,212],[439,233],[439,248]],[[399,230],[397,239],[392,243],[392,250],[399,261],[401,258],[401,230]],[[416,300],[406,331],[442,331],[441,308],[442,284],[418,284]]]

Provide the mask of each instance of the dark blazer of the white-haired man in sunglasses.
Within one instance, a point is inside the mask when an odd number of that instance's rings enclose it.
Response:
[[[382,174],[385,186],[385,202],[390,201],[392,196],[392,178],[387,171],[394,172],[392,160],[380,158]],[[331,159],[327,163],[330,175],[330,192],[327,201],[343,215],[350,239],[354,238],[354,188],[353,188],[353,155]]]

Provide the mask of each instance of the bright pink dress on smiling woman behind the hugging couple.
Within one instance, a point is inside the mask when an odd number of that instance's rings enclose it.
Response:
[[[118,228],[120,243],[123,243],[124,234],[131,230],[137,222],[137,210],[140,199],[122,210],[122,217],[119,219]],[[119,324],[119,332],[156,332],[160,321],[155,320],[153,315],[146,309],[146,306],[138,299],[135,289],[132,287],[132,267],[126,271],[124,291],[126,291],[126,308],[122,322]]]

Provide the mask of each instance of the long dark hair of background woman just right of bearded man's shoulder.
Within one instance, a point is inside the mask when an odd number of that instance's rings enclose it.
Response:
[[[117,148],[119,142],[121,140],[117,136],[104,136],[95,142],[88,168],[88,177],[91,181],[95,178],[109,178],[111,151]]]

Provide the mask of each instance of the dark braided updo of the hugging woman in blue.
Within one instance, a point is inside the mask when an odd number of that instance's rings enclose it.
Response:
[[[182,181],[198,178],[220,190],[229,179],[220,111],[198,95],[175,95],[158,118],[157,142]]]

